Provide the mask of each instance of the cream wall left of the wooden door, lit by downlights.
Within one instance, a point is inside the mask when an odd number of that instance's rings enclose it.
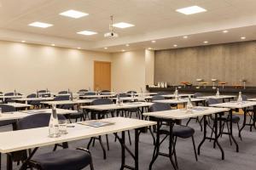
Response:
[[[70,48],[0,41],[0,91],[93,88],[93,61],[111,55]]]

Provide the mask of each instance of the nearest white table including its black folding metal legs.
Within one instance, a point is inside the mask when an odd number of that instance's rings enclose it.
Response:
[[[121,145],[121,167],[120,169],[130,168],[139,169],[139,134],[142,128],[153,126],[156,122],[149,122],[144,120],[137,120],[125,117],[113,117],[108,119],[102,119],[102,121],[112,122],[113,124],[104,127],[89,127],[79,123],[72,123],[67,127],[67,134],[61,135],[58,138],[49,138],[49,127],[39,127],[26,130],[18,130],[11,132],[0,133],[0,152],[7,154],[7,169],[11,170],[12,159],[11,153],[19,150],[32,149],[32,155],[38,150],[39,147],[44,147],[52,144],[60,144],[64,142],[71,142],[80,139],[90,139],[99,135],[105,135],[113,133],[119,140]],[[132,152],[128,146],[125,145],[125,131],[135,130],[135,146],[134,152]],[[119,137],[118,133],[121,133]],[[35,136],[37,138],[35,138]],[[19,142],[17,142],[19,141]],[[127,152],[126,152],[127,150]],[[127,165],[125,158],[127,154],[130,154],[134,159],[134,167]],[[126,154],[126,156],[125,156]],[[28,160],[32,155],[28,156]],[[26,160],[26,161],[28,161]],[[25,161],[25,162],[26,162]],[[22,169],[22,168],[21,168]]]

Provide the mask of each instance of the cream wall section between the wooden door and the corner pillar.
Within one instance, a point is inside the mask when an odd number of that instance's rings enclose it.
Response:
[[[119,92],[145,88],[145,50],[112,54],[112,88]]]

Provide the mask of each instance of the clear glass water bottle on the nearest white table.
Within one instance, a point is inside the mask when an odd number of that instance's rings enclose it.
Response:
[[[52,112],[49,118],[49,138],[57,138],[59,136],[59,121],[56,111],[56,105],[52,105]]]

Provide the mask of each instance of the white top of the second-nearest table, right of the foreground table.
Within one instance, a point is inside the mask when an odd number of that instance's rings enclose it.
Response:
[[[143,113],[143,115],[173,119],[173,120],[182,120],[190,117],[211,115],[211,114],[220,113],[224,111],[230,111],[230,109],[197,106],[190,111],[187,111],[185,109],[176,109],[176,110],[169,110],[169,111],[148,112],[148,113]]]

